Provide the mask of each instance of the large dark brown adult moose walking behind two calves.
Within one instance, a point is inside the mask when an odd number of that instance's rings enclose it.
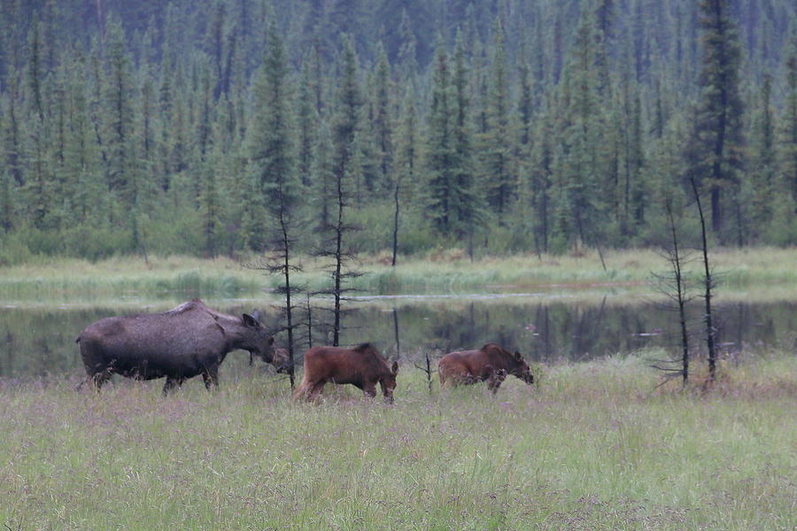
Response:
[[[163,394],[202,374],[219,383],[219,366],[231,350],[249,350],[271,362],[274,338],[251,315],[216,312],[194,299],[163,313],[107,317],[77,338],[88,378],[99,390],[113,373],[136,380],[166,376]]]

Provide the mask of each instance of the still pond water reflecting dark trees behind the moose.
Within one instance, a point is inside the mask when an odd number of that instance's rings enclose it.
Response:
[[[80,373],[81,358],[75,338],[97,319],[111,315],[161,312],[185,299],[138,301],[70,307],[0,307],[0,377],[37,377]],[[264,313],[267,327],[280,326],[275,304],[216,300],[208,304],[222,312]],[[313,326],[298,330],[298,351],[328,341],[329,311],[323,301],[311,304]],[[472,349],[498,342],[520,350],[533,360],[566,358],[573,361],[666,347],[677,352],[677,313],[648,296],[399,296],[368,298],[349,304],[342,343],[374,342],[386,355],[432,358],[450,350]],[[797,351],[797,302],[717,303],[717,340],[724,353],[777,348]],[[298,308],[306,320],[306,309]],[[690,312],[693,345],[702,345],[700,305]],[[283,334],[277,342],[283,342]],[[233,361],[229,361],[233,360]],[[232,353],[227,365],[243,366],[244,352]],[[222,371],[224,366],[222,366]]]

